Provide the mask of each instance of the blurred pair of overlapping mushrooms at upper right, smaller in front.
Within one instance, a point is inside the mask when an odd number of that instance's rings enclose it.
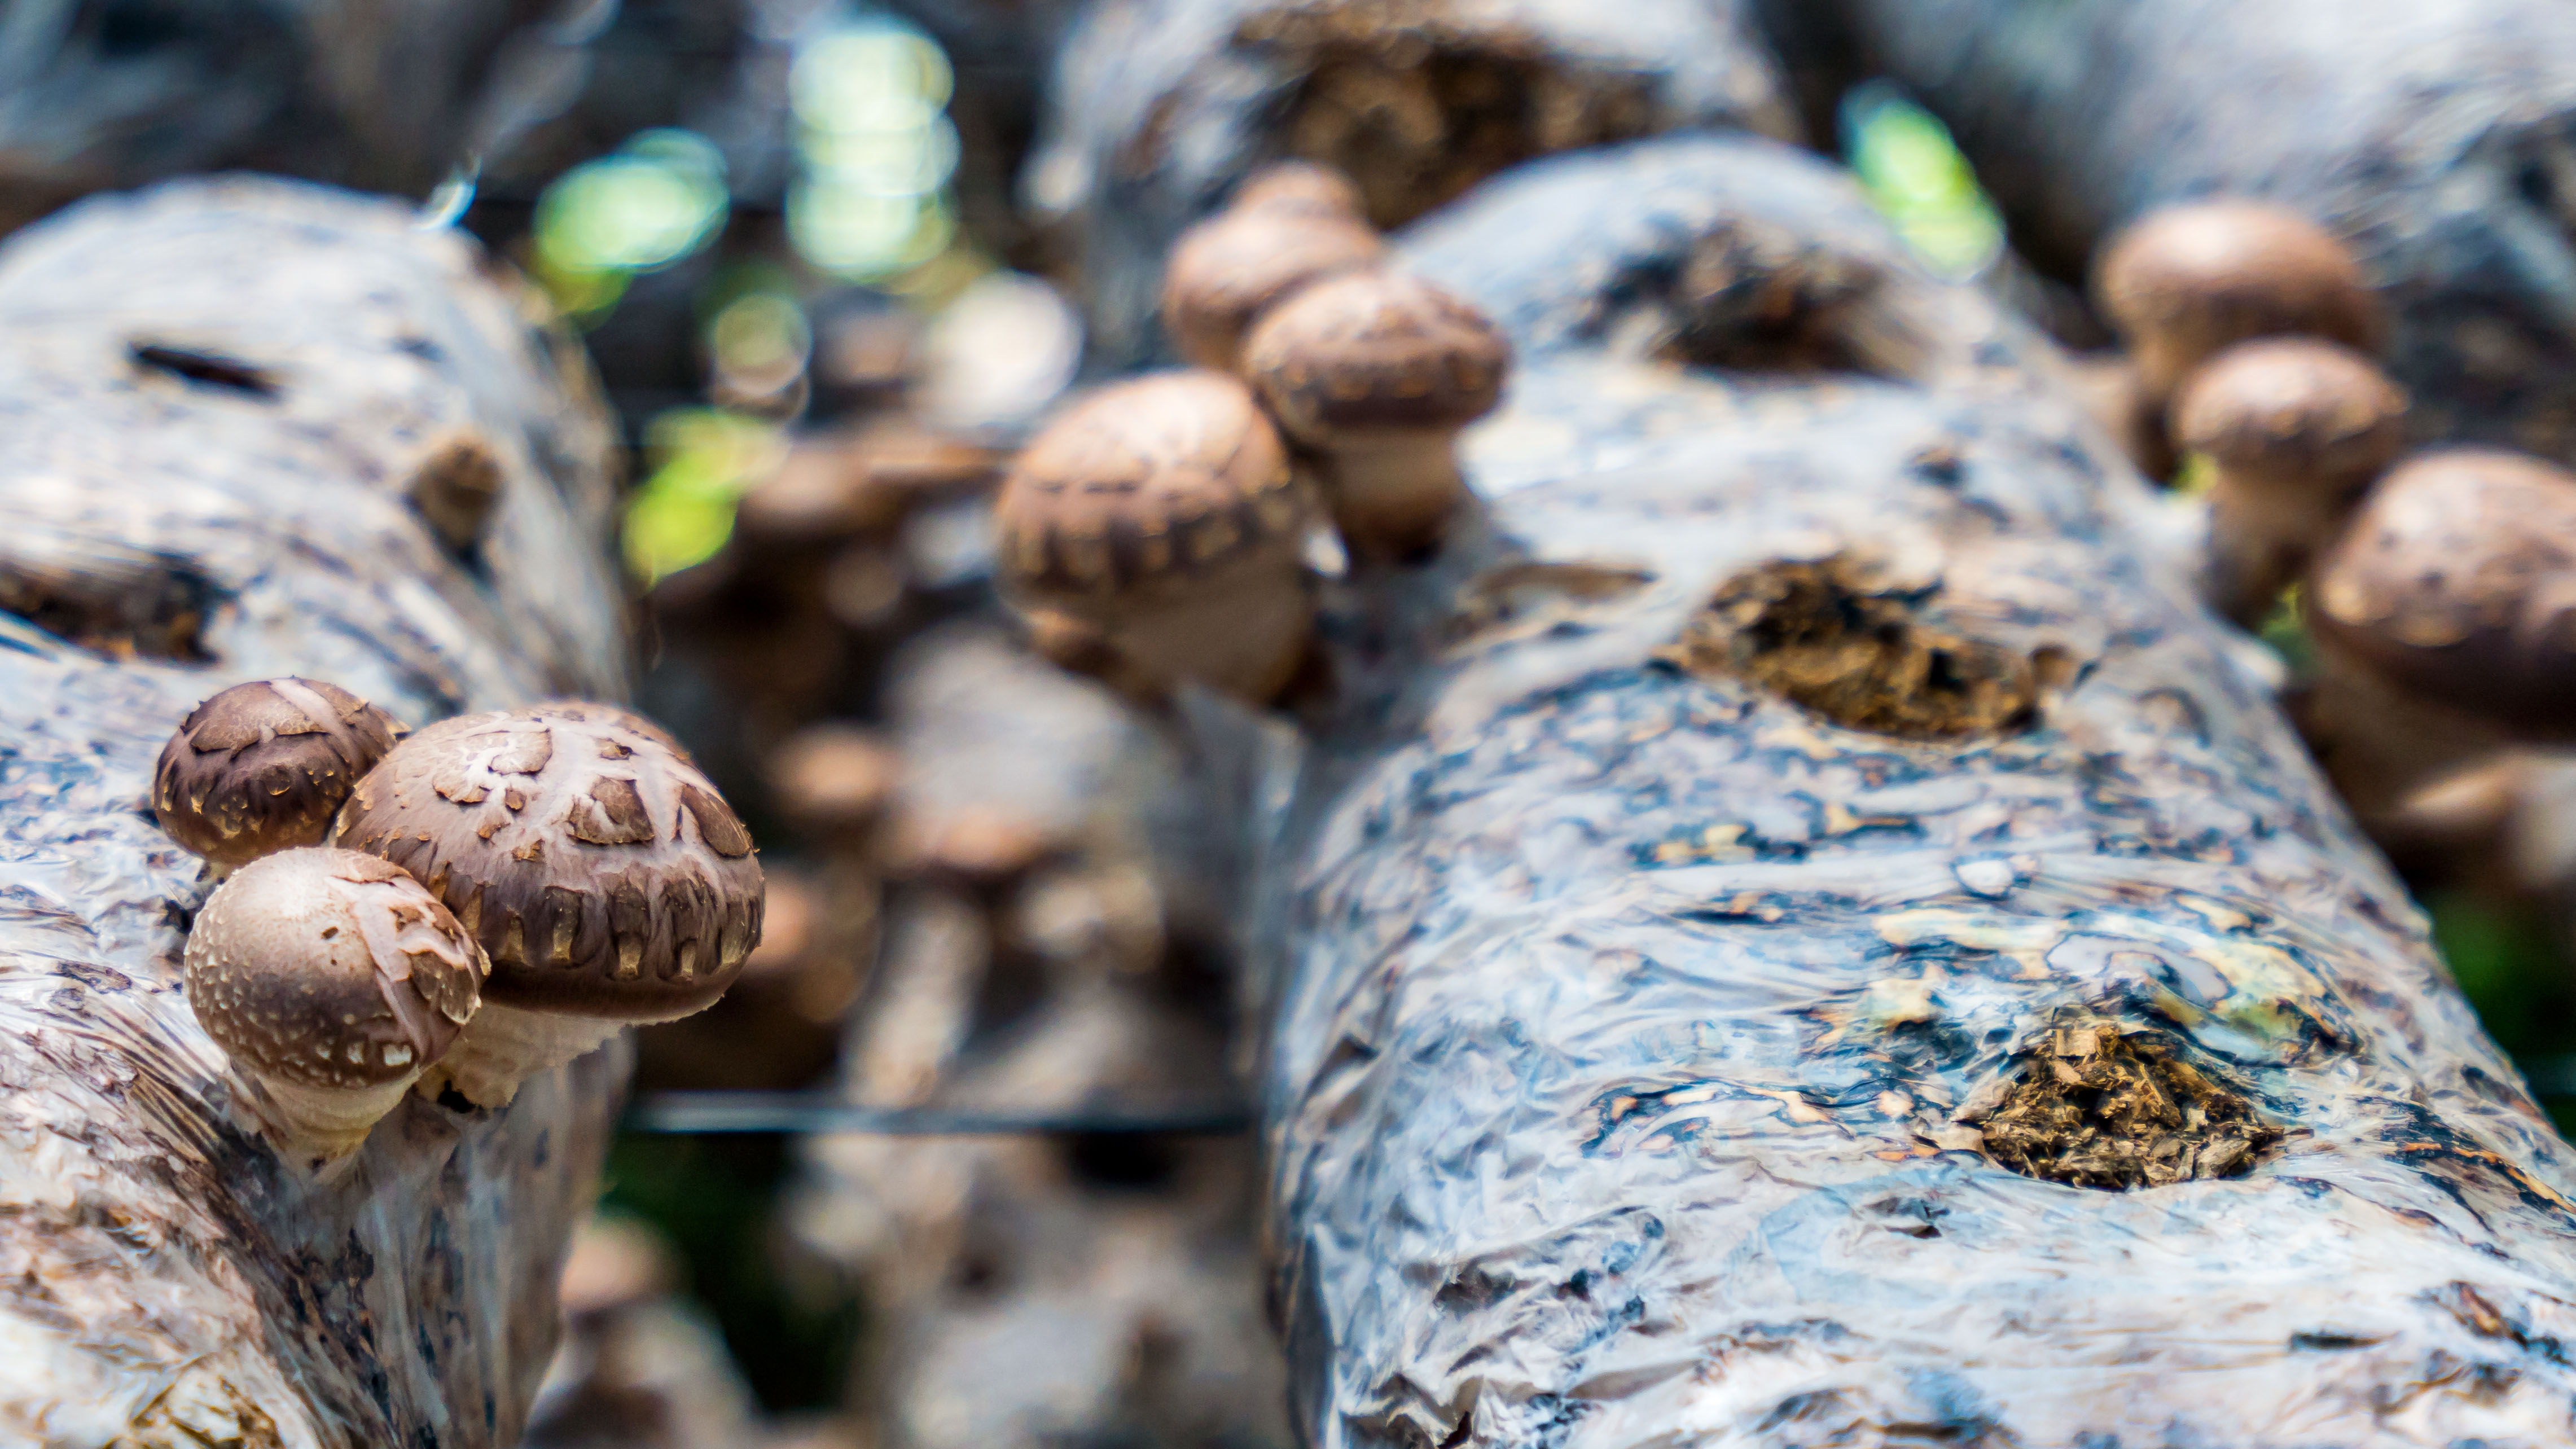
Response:
[[[2259,201],[2146,216],[2097,291],[2133,373],[2115,422],[2151,468],[2166,445],[2208,461],[2202,589],[2254,623],[2406,443],[2406,394],[2370,358],[2380,304],[2342,242]]]

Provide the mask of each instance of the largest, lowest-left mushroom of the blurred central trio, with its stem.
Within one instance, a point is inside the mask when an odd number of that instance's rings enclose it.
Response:
[[[1154,373],[1103,389],[1020,453],[994,502],[997,569],[1023,615],[1095,641],[1144,687],[1195,679],[1267,703],[1314,631],[1301,561],[1314,522],[1244,383]]]

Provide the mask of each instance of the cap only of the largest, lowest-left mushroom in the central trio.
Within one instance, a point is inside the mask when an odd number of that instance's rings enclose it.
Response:
[[[994,499],[1005,587],[1095,610],[1260,556],[1293,574],[1311,522],[1252,389],[1208,371],[1100,389],[1030,440]]]

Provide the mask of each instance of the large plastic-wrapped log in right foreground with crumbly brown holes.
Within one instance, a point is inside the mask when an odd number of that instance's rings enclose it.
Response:
[[[1255,816],[1306,1439],[2566,1441],[2576,1163],[2048,347],[1749,139],[1404,255],[1522,358]]]

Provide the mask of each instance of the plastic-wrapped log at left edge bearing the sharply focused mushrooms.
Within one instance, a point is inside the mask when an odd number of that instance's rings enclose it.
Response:
[[[337,1181],[289,1168],[188,1009],[209,883],[147,782],[240,679],[415,726],[626,692],[611,432],[541,317],[410,208],[276,180],[0,247],[0,1439],[518,1439],[623,1053],[497,1114],[407,1099]],[[500,476],[464,551],[412,502],[459,448]]]

